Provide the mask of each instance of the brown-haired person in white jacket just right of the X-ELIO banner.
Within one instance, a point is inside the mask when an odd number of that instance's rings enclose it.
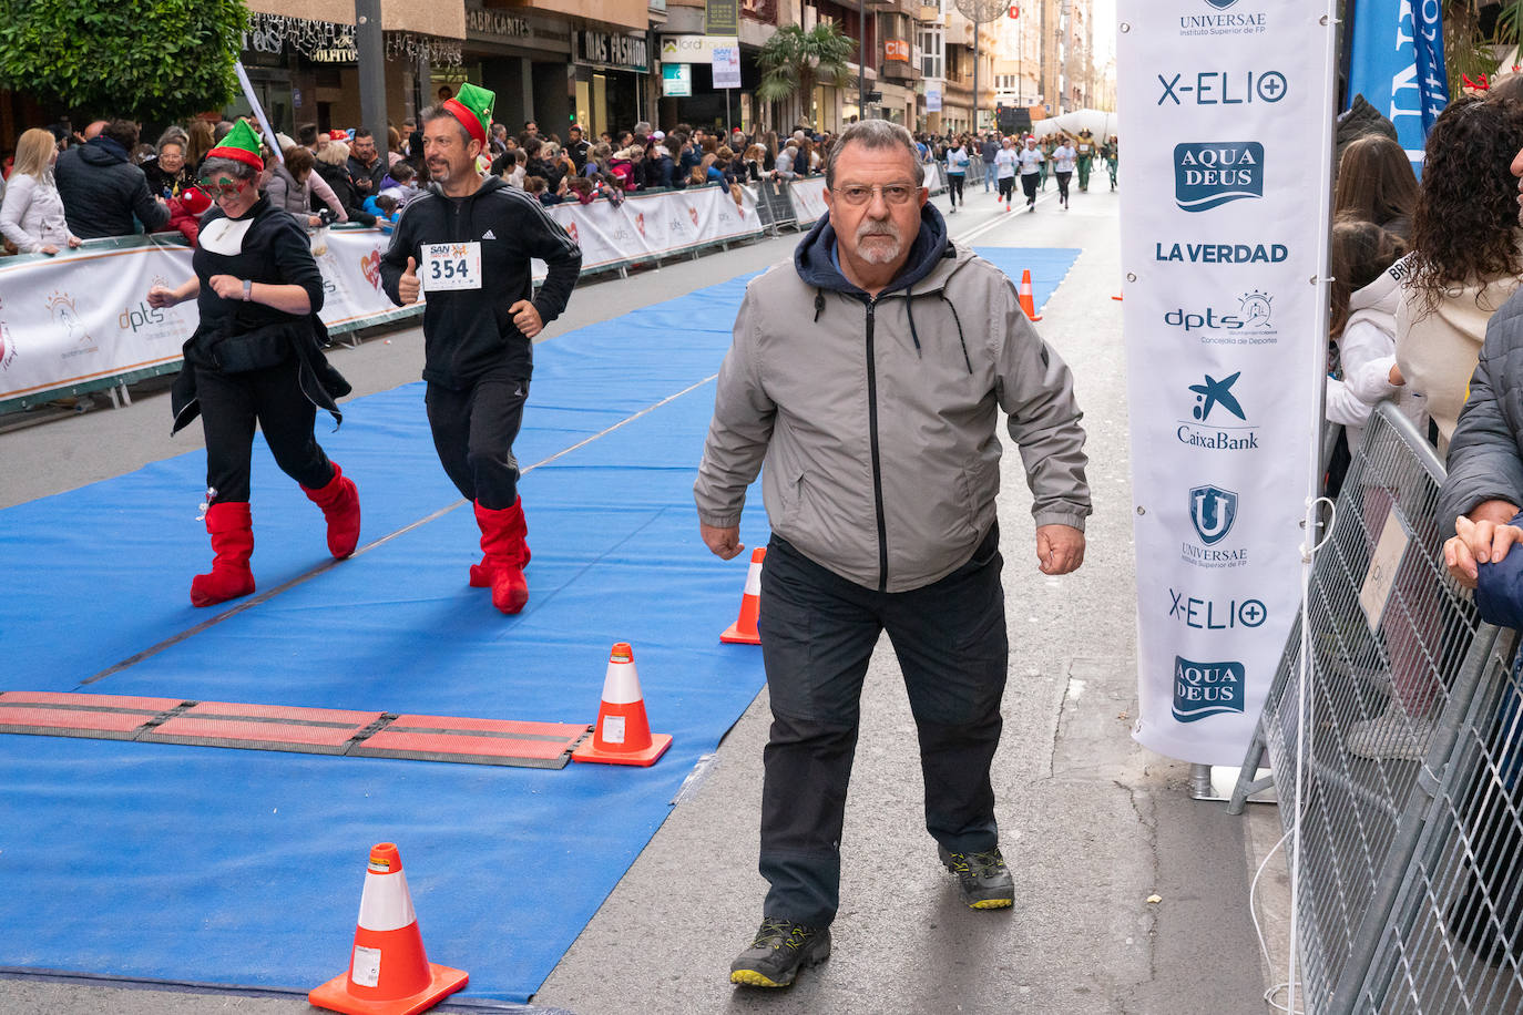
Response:
[[[1404,254],[1401,237],[1372,222],[1340,219],[1333,225],[1328,265],[1339,282],[1333,286],[1331,333],[1343,377],[1327,380],[1327,417],[1343,425],[1351,452],[1359,452],[1369,414],[1384,400],[1394,400],[1418,432],[1427,431],[1427,399],[1406,385],[1397,367],[1397,307],[1410,274]],[[1340,300],[1340,292],[1348,295]]]

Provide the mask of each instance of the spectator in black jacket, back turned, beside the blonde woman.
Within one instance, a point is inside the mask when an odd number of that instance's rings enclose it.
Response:
[[[53,180],[64,199],[69,231],[79,239],[131,236],[137,231],[134,215],[149,233],[169,224],[169,208],[154,201],[148,178],[126,151],[101,134],[58,157]]]

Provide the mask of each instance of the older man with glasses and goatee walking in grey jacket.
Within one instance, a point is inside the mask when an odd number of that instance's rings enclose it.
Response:
[[[841,828],[868,657],[888,630],[920,733],[926,828],[973,908],[1013,904],[990,764],[1005,688],[999,411],[1034,495],[1037,562],[1084,555],[1084,432],[1068,367],[993,265],[947,237],[909,132],[847,128],[830,215],[754,280],[719,374],[694,487],[701,533],[739,554],[763,461],[772,542],[762,654],[762,928],[731,980],[786,986],[830,954]]]

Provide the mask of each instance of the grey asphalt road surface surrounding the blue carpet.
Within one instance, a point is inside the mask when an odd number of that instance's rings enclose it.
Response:
[[[1043,336],[1069,362],[1089,432],[1095,516],[1080,572],[1036,568],[1019,457],[1004,460],[1001,528],[1011,630],[1005,735],[995,761],[1002,848],[1016,875],[1011,910],[972,912],[935,858],[921,823],[914,724],[886,641],[864,695],[847,828],[844,907],[835,954],[786,992],[728,983],[760,919],[755,873],[766,692],[617,890],[533,997],[538,1010],[646,1012],[1039,1012],[1043,1015],[1235,1015],[1261,1012],[1284,978],[1266,968],[1249,913],[1249,880],[1278,837],[1272,808],[1247,819],[1188,797],[1188,765],[1129,737],[1136,709],[1132,499],[1125,355],[1121,341],[1119,195],[1098,187],[1057,208],[1004,212],[973,187],[949,218],[955,236],[988,247],[1077,247],[1045,309]],[[946,207],[946,199],[938,198]],[[553,327],[564,333],[786,259],[797,237],[673,262],[629,280],[583,285]],[[411,382],[416,329],[340,350],[335,365],[370,394]],[[195,428],[169,440],[168,397],[136,391],[123,409],[62,414],[30,426],[0,420],[0,507],[195,450]],[[760,505],[751,510],[760,510]],[[1282,870],[1260,889],[1266,928],[1282,937]],[[1161,901],[1150,902],[1150,896]],[[1282,950],[1282,943],[1279,945]],[[1276,959],[1278,965],[1278,959]],[[180,1015],[309,1012],[294,995],[230,995],[192,986],[104,986],[82,978],[0,978],[0,1012]],[[468,1010],[468,1009],[461,1009]]]

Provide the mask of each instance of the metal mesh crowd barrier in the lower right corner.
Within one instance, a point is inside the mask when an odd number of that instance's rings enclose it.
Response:
[[[1383,403],[1229,805],[1241,813],[1260,788],[1249,779],[1266,753],[1287,832],[1304,790],[1298,968],[1316,1015],[1523,1010],[1515,633],[1482,622],[1444,569],[1442,479]]]

